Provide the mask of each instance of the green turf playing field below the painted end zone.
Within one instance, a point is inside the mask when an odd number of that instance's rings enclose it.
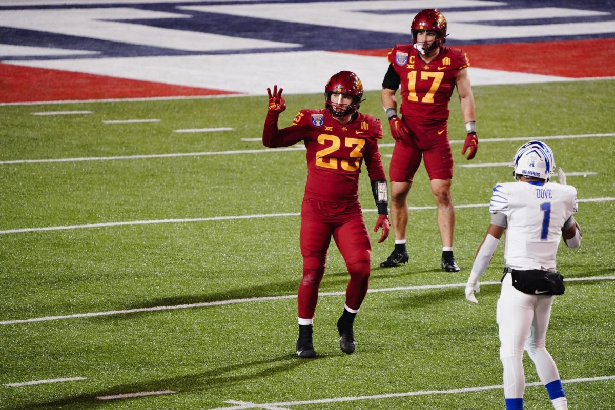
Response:
[[[371,233],[370,289],[383,291],[363,303],[352,355],[339,350],[348,277],[331,246],[315,360],[294,351],[304,151],[242,140],[260,138],[265,97],[0,106],[0,409],[503,409],[499,286],[483,285],[474,306],[462,285],[435,285],[466,282],[491,187],[512,181],[512,171],[461,165],[509,162],[524,141],[507,139],[571,135],[585,137],[546,140],[577,187],[583,229],[581,248],[560,246],[558,267],[566,278],[596,279],[569,282],[557,298],[547,348],[572,381],[571,409],[615,409],[615,283],[599,278],[615,275],[615,81],[474,87],[474,95],[482,142],[471,162],[456,142],[465,132],[455,96],[449,124],[462,271],[440,270],[421,168],[410,194],[411,207],[424,207],[410,213],[410,262],[380,269],[393,238],[377,244]],[[365,97],[362,111],[384,119],[379,92]],[[323,96],[289,95],[287,105],[281,127],[298,109],[322,107]],[[33,115],[76,110],[92,113]],[[103,123],[125,119],[160,122]],[[216,127],[233,129],[174,132]],[[388,173],[386,122],[384,133]],[[371,231],[367,172],[361,179]],[[501,269],[499,246],[481,282],[497,282]],[[244,300],[252,298],[264,299]],[[104,314],[74,316],[96,312]],[[527,382],[539,382],[524,363]],[[82,379],[10,387],[73,377]],[[167,393],[97,398],[140,392]],[[542,387],[527,387],[525,402],[552,408]]]

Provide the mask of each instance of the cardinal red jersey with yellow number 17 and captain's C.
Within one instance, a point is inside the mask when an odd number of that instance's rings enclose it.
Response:
[[[421,124],[446,122],[455,76],[470,65],[466,53],[440,47],[434,61],[425,63],[411,44],[405,44],[393,47],[387,58],[401,81],[400,113]]]

